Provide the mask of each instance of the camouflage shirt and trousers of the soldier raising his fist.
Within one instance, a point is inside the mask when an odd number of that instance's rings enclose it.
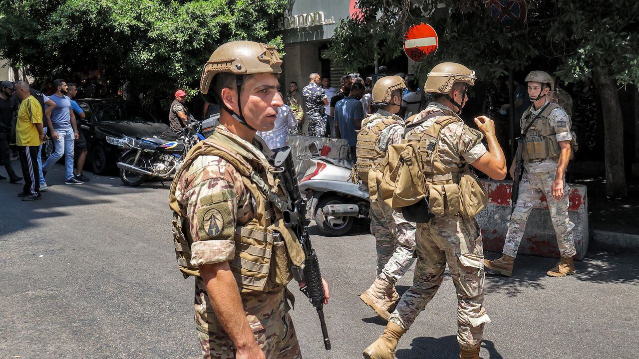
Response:
[[[439,103],[430,103],[417,115],[415,121],[436,111],[456,116],[449,108]],[[410,133],[424,132],[438,118],[439,116],[428,119]],[[449,168],[458,167],[464,161],[472,164],[486,153],[486,147],[481,143],[482,138],[479,132],[463,122],[445,126],[438,142],[442,164]],[[417,224],[417,264],[413,286],[399,300],[396,310],[390,316],[390,322],[408,330],[442,284],[447,263],[459,303],[459,347],[474,349],[481,344],[484,323],[489,323],[490,319],[482,304],[484,249],[481,230],[477,221],[471,218],[444,215],[433,218],[428,223]]]

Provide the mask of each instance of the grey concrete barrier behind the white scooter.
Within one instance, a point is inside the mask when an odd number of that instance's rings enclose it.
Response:
[[[309,168],[308,157],[305,153],[309,153],[309,144],[315,142],[318,146],[319,153],[329,158],[348,158],[348,141],[345,139],[329,139],[328,137],[289,135],[287,146],[291,147],[293,153],[293,162],[295,163],[295,173],[298,178],[304,176],[304,172]]]

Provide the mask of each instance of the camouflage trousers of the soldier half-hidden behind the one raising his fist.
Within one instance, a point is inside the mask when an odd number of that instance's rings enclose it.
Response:
[[[368,187],[362,186],[363,190]],[[371,201],[371,234],[375,236],[377,275],[389,283],[404,276],[415,260],[415,224],[381,200]]]

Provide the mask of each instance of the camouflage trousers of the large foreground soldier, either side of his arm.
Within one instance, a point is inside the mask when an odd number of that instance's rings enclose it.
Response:
[[[268,359],[302,359],[291,316],[286,313],[281,321],[254,332],[259,348]],[[235,346],[226,333],[207,333],[198,328],[197,337],[202,347],[202,359],[235,358]]]

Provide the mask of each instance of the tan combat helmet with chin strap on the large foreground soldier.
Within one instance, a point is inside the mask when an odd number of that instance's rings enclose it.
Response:
[[[243,76],[253,73],[281,73],[282,59],[275,50],[275,47],[266,45],[265,43],[252,41],[233,41],[227,42],[213,51],[211,57],[206,61],[202,70],[202,79],[200,80],[200,92],[204,101],[216,103],[215,98],[219,96],[214,91],[209,91],[213,83],[213,77],[218,73],[233,73],[236,76],[237,91],[242,91]],[[220,108],[228,112],[238,122],[247,126],[251,130],[255,130],[250,126],[242,116],[242,105],[240,105],[238,96],[239,114],[226,107],[222,101],[219,101]]]

